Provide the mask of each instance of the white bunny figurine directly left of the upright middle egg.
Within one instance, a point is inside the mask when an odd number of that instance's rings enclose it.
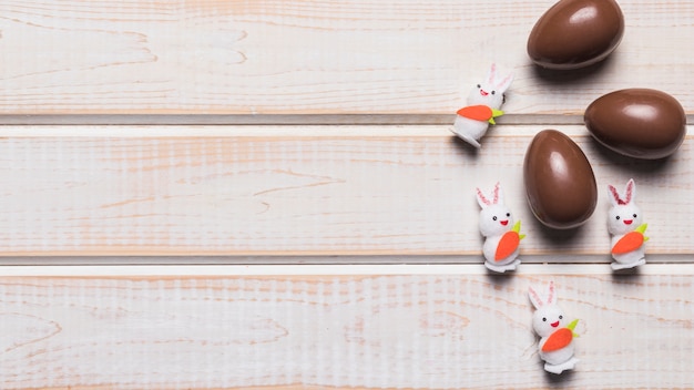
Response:
[[[480,212],[480,233],[484,236],[482,254],[487,268],[503,273],[513,270],[520,264],[518,258],[520,240],[525,235],[519,234],[520,220],[513,223],[513,215],[503,204],[503,193],[499,183],[494,185],[491,199],[477,188],[477,202]]]

